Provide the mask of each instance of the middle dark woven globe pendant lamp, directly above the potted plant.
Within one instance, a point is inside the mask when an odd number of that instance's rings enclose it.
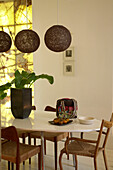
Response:
[[[38,49],[40,38],[33,30],[22,30],[15,37],[15,46],[23,53],[31,53]]]

